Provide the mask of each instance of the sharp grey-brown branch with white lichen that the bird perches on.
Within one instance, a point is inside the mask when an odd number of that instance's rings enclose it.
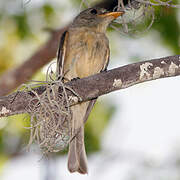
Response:
[[[180,75],[180,55],[129,64],[87,78],[70,81],[65,83],[65,87],[69,87],[66,91],[67,97],[70,105],[73,105],[138,83],[178,75]],[[60,94],[62,92],[60,84],[59,87],[58,93]],[[40,86],[35,88],[34,92],[41,95],[45,90],[45,86]],[[32,91],[19,91],[0,97],[0,117],[30,112],[30,103],[35,103],[33,102],[34,97],[35,93]]]

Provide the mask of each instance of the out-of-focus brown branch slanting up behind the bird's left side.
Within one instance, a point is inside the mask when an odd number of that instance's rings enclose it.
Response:
[[[0,77],[0,96],[4,96],[19,85],[27,82],[34,73],[50,62],[55,56],[61,34],[67,27],[52,32],[49,40],[22,65],[5,72]]]

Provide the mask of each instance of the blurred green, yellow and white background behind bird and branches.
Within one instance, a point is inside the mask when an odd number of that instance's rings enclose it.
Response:
[[[68,25],[80,10],[95,3],[0,0],[0,76],[24,63],[46,43],[53,30]],[[130,27],[131,33],[117,24],[114,26],[118,29],[109,28],[109,69],[180,54],[180,9],[157,6],[153,12],[150,28],[148,18]],[[128,11],[126,18],[130,15]],[[47,67],[32,79],[45,80]],[[27,151],[29,131],[24,127],[29,126],[28,115],[1,118],[0,179],[178,180],[179,92],[180,77],[172,77],[100,97],[86,123],[89,174],[85,176],[68,172],[66,151],[48,157],[36,145]]]

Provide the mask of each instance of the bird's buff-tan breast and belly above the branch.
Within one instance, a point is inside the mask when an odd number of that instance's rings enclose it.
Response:
[[[109,42],[105,34],[90,30],[70,31],[64,62],[65,77],[87,77],[100,72],[107,63]]]

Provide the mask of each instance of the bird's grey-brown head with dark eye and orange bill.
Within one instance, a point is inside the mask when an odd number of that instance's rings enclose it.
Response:
[[[124,11],[110,12],[103,8],[89,8],[82,11],[73,21],[72,27],[89,27],[105,32],[107,26]]]

